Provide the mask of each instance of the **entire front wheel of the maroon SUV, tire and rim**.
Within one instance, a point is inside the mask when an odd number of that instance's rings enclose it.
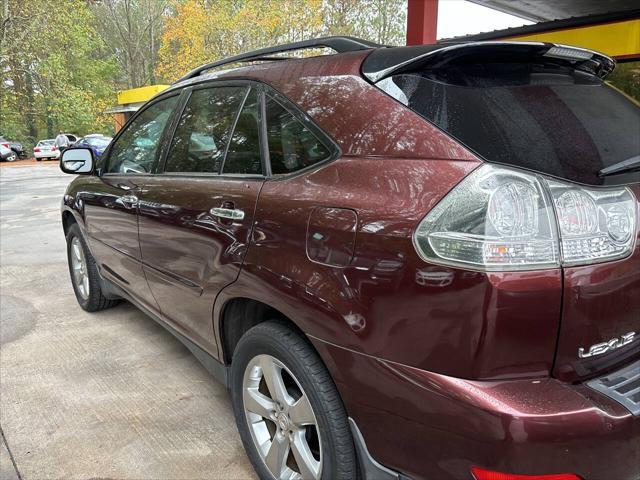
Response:
[[[84,310],[97,312],[118,303],[103,295],[98,267],[77,223],[71,225],[67,233],[67,260],[73,291]]]

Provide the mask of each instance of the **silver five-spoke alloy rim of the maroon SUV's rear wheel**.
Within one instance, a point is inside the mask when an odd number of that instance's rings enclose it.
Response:
[[[252,358],[244,372],[242,397],[254,445],[273,477],[320,479],[316,415],[291,371],[271,355]]]

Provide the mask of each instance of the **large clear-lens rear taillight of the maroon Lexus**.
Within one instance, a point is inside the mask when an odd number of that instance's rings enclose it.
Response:
[[[532,270],[622,258],[636,232],[626,188],[586,188],[483,165],[414,233],[426,261],[481,270]]]

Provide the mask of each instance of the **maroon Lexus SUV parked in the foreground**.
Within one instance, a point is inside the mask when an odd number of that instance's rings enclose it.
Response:
[[[314,47],[337,53],[283,56]],[[101,159],[64,152],[78,302],[184,342],[263,479],[637,480],[640,108],[614,66],[349,37],[204,65]]]

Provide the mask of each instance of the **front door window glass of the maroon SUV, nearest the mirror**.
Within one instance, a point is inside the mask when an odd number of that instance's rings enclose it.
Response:
[[[151,171],[160,137],[177,100],[177,96],[161,100],[134,118],[111,147],[107,173]]]

